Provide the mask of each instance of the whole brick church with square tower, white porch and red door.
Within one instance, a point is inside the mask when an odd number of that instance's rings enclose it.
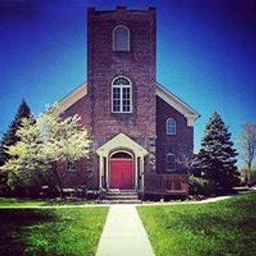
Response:
[[[88,80],[60,100],[58,113],[81,116],[92,156],[59,164],[65,187],[185,195],[178,160],[193,152],[199,115],[156,81],[156,8],[89,8],[87,26]]]

